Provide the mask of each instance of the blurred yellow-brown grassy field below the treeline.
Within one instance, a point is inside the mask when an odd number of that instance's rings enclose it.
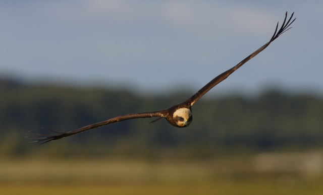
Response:
[[[254,159],[2,159],[0,194],[323,194],[321,173],[259,172]]]

